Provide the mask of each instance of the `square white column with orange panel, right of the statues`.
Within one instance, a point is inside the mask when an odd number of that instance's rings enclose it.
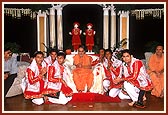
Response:
[[[129,48],[129,11],[120,12],[120,41],[127,38],[127,44],[123,48]]]

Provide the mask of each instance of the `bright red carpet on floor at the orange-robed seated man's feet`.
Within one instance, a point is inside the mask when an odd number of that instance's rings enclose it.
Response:
[[[74,93],[72,96],[72,100],[70,103],[74,102],[115,102],[119,103],[121,102],[119,97],[110,97],[106,95],[101,95],[98,93]]]

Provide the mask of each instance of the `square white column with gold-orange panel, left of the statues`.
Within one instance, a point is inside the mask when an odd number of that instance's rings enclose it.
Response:
[[[47,49],[43,45],[43,43],[46,45],[46,19],[47,15],[45,12],[41,12],[39,10],[37,14],[37,50],[46,52]]]

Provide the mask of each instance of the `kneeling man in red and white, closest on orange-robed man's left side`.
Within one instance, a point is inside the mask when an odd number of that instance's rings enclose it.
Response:
[[[66,77],[64,72],[65,67],[63,65],[65,57],[65,53],[59,51],[57,56],[57,67],[54,65],[49,65],[48,67],[47,87],[44,94],[46,98],[48,98],[48,101],[52,103],[66,104],[72,99],[73,91],[64,80]]]

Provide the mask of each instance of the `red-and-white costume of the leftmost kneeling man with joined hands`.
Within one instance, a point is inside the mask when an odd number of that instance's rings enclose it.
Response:
[[[41,79],[39,74],[40,70],[44,67],[47,67],[47,64],[44,61],[42,62],[42,66],[38,66],[36,60],[33,59],[26,71],[26,87],[24,90],[24,97],[26,99],[39,99],[40,102],[38,104],[43,103],[42,97],[45,87],[45,80]]]

